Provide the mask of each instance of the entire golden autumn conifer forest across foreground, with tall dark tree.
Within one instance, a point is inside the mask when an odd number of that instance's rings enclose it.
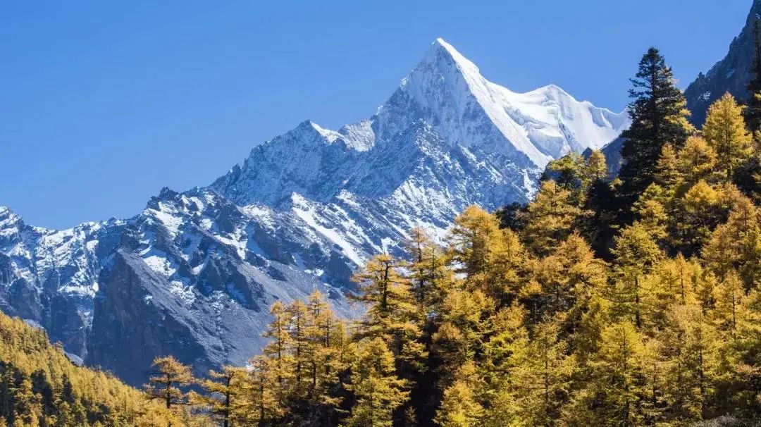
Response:
[[[756,59],[755,91],[761,88]],[[552,161],[533,202],[472,206],[380,254],[341,319],[276,302],[245,367],[157,358],[143,392],[3,320],[8,425],[754,425],[761,418],[761,94],[702,129],[657,49],[629,91],[622,167]],[[7,323],[7,324],[6,324]],[[10,336],[10,338],[6,337]],[[16,338],[14,338],[16,336]],[[10,351],[9,351],[10,350]],[[44,354],[47,358],[34,356]],[[724,423],[724,424],[722,424]]]

